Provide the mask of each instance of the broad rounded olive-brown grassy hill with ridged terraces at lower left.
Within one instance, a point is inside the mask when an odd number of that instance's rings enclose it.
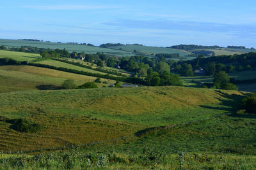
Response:
[[[34,150],[95,141],[115,143],[120,138],[137,143],[138,131],[232,113],[241,98],[240,92],[184,87],[3,93],[0,148]],[[35,134],[14,131],[8,121],[13,118],[36,122],[42,130]]]

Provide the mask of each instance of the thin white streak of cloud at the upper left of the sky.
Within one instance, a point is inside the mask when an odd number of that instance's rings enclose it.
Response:
[[[87,6],[87,5],[38,5],[38,6],[21,6],[22,8],[30,8],[33,10],[99,10],[113,9],[118,6]]]

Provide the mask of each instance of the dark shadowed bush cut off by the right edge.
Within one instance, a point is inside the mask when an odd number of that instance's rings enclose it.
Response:
[[[246,113],[256,113],[256,92],[242,100],[242,108]]]

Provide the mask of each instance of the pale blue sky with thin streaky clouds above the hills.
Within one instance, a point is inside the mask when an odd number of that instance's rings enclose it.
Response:
[[[255,0],[8,0],[0,15],[3,39],[256,48]]]

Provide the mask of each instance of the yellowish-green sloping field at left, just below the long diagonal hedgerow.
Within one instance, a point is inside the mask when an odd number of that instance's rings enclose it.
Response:
[[[58,87],[67,79],[75,80],[76,85],[81,85],[96,78],[34,66],[0,66],[0,92],[36,90],[43,88],[43,85]],[[109,84],[115,83],[113,80],[101,80]],[[106,84],[97,85],[102,87]]]

